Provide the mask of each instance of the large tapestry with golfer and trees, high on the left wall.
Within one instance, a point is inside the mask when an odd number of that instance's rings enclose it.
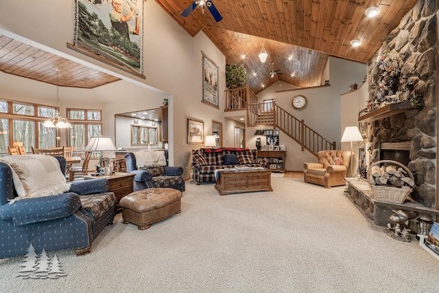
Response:
[[[144,0],[75,0],[73,44],[67,47],[145,78]]]

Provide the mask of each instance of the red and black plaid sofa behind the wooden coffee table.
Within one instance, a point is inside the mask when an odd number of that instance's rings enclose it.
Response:
[[[193,169],[193,180],[197,185],[202,182],[215,182],[216,169],[233,168],[235,165],[265,167],[265,160],[257,159],[256,152],[257,150],[248,148],[200,148],[199,150],[192,150],[191,169]],[[233,155],[236,156],[235,162],[233,162],[235,157]]]

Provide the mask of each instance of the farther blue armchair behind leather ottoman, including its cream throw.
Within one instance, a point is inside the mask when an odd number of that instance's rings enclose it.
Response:
[[[126,172],[135,174],[134,191],[152,187],[186,190],[183,167],[167,166],[163,151],[128,152],[125,163]]]

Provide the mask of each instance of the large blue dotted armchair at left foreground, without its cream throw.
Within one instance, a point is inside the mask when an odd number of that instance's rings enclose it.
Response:
[[[65,175],[65,159],[56,159]],[[12,169],[0,162],[0,259],[25,255],[31,243],[37,253],[43,248],[89,253],[97,235],[115,217],[115,196],[108,190],[105,178],[84,180],[73,182],[64,194],[23,198],[11,204],[17,196]]]

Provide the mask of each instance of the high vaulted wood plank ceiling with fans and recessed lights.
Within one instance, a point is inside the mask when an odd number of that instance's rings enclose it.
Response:
[[[202,31],[226,56],[226,62],[244,64],[254,93],[278,80],[299,87],[322,83],[328,56],[367,63],[386,36],[399,25],[418,0],[211,0],[222,16],[215,22],[200,7],[180,14],[193,0],[156,0],[191,36]],[[364,13],[377,6],[373,19]],[[351,40],[361,40],[353,48]],[[261,45],[268,60],[258,58]],[[241,56],[246,55],[245,59]],[[270,78],[274,70],[283,75]],[[257,75],[253,75],[256,73]],[[294,76],[292,76],[294,74]]]

